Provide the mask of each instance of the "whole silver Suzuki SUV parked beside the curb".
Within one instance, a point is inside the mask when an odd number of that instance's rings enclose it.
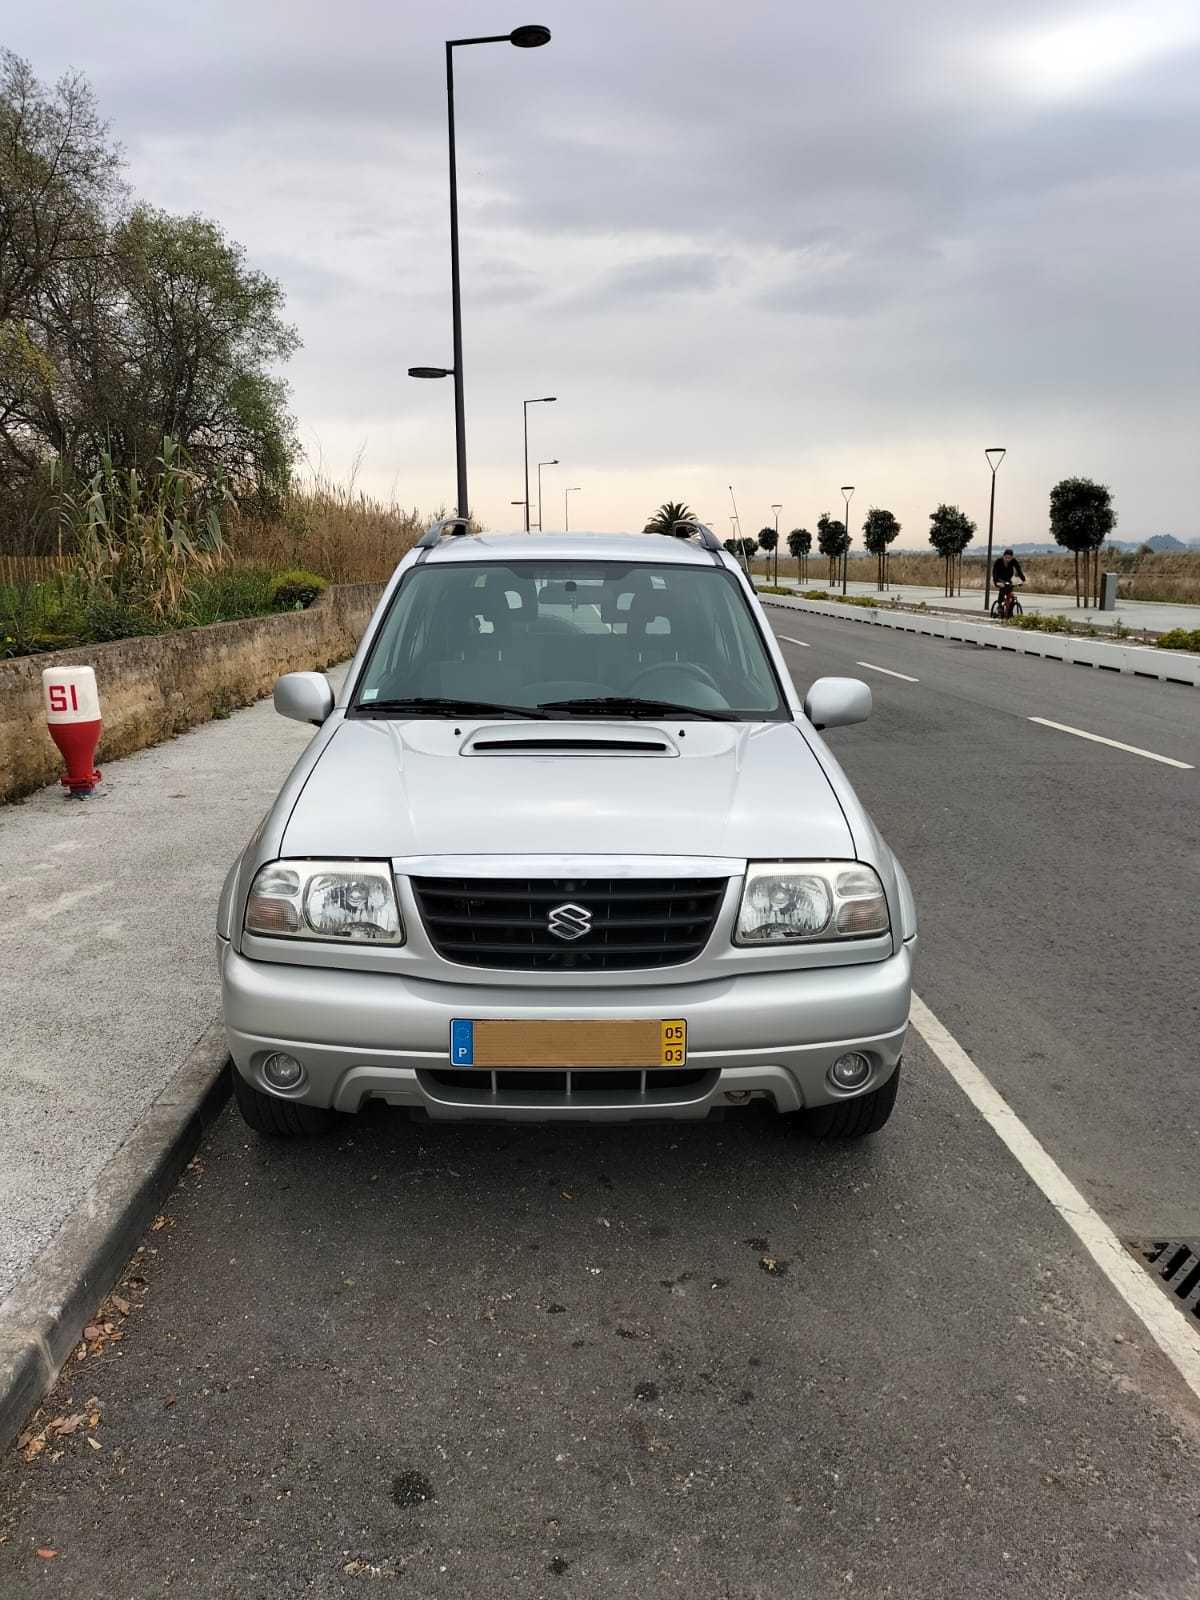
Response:
[[[434,1118],[888,1120],[917,918],[904,872],[707,528],[470,536],[395,571],[234,864],[218,955],[261,1133],[366,1101]]]

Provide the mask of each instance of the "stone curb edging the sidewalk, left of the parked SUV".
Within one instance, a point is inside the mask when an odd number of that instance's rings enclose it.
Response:
[[[0,1304],[0,1451],[53,1387],[98,1304],[229,1098],[229,1051],[210,1022],[166,1088]]]

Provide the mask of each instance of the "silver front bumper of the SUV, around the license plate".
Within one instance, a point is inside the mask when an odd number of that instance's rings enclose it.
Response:
[[[358,1110],[368,1099],[422,1110],[438,1120],[627,1122],[701,1118],[714,1109],[765,1096],[781,1112],[846,1098],[826,1074],[846,1050],[872,1061],[858,1093],[894,1072],[909,1021],[912,942],[883,962],[808,971],[747,973],[702,982],[635,989],[498,989],[432,982],[390,973],[251,962],[219,942],[229,1053],[256,1088],[270,1090],[262,1062],[286,1051],[304,1067],[301,1086],[282,1093],[310,1106]],[[603,1086],[586,1072],[562,1093],[506,1088],[480,1070],[480,1088],[450,1074],[451,1018],[573,1019],[685,1018],[686,1072],[672,1088]],[[523,1075],[528,1078],[528,1074]],[[550,1082],[550,1080],[547,1080]],[[590,1080],[603,1085],[603,1078]]]

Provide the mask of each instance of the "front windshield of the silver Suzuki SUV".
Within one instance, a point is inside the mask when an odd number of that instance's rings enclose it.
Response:
[[[651,562],[435,562],[379,627],[354,715],[790,715],[733,574]],[[413,704],[419,702],[419,704]],[[574,704],[579,702],[579,704]]]

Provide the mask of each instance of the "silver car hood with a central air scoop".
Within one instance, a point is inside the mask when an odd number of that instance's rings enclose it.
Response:
[[[854,856],[790,722],[352,718],[280,821],[285,856]]]

